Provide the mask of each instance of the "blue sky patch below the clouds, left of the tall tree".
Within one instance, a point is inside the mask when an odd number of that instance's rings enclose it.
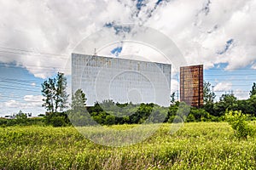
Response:
[[[44,113],[41,107],[41,83],[26,69],[15,65],[0,64],[0,115],[10,115],[22,110],[34,115]]]

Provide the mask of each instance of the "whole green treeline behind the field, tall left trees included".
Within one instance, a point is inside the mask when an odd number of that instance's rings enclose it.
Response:
[[[49,78],[42,83],[43,102],[46,113],[44,117],[28,118],[22,112],[15,119],[0,118],[0,126],[43,125],[43,126],[87,126],[113,124],[140,124],[157,122],[220,122],[224,121],[225,113],[241,111],[248,119],[256,116],[256,83],[253,83],[250,98],[238,100],[233,94],[223,94],[218,102],[210,89],[211,84],[204,82],[204,105],[194,108],[183,102],[175,101],[171,95],[169,107],[155,104],[132,103],[119,104],[113,100],[104,100],[93,106],[86,106],[86,97],[81,89],[72,95],[71,109],[67,109],[66,92],[67,78],[63,73]]]

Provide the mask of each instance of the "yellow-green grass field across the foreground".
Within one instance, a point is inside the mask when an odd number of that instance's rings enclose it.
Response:
[[[134,125],[113,126],[129,127]],[[185,123],[174,134],[163,124],[150,138],[126,147],[95,144],[74,127],[0,128],[0,169],[255,168],[256,138],[236,139],[226,122]]]

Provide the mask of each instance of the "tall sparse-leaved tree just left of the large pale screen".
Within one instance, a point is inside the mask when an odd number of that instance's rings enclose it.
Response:
[[[58,72],[56,78],[49,78],[42,83],[42,94],[46,111],[51,113],[63,111],[67,108],[68,94],[66,92],[67,78],[64,73]]]

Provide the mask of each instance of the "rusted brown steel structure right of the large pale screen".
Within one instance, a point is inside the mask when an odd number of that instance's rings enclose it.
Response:
[[[180,101],[197,108],[203,105],[203,65],[180,67]]]

